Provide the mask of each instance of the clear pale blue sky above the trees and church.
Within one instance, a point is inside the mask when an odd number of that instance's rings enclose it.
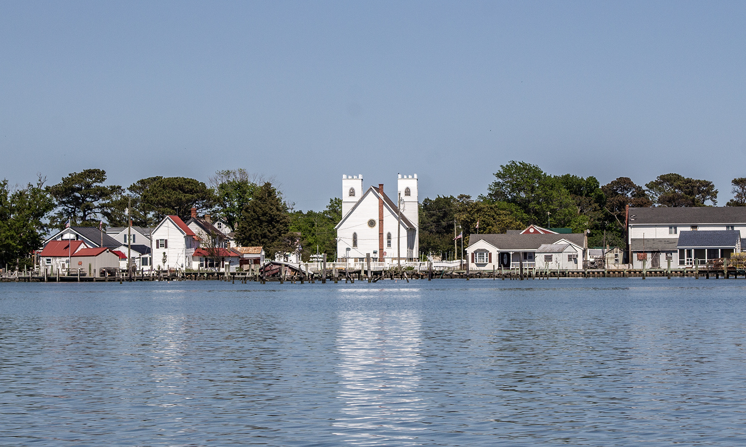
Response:
[[[0,177],[342,174],[482,194],[511,159],[644,184],[746,177],[746,3],[0,3]]]

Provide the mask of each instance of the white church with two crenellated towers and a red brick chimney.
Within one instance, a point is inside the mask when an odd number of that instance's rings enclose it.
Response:
[[[363,189],[363,176],[342,175],[342,221],[336,225],[338,262],[394,264],[419,256],[417,174],[398,174],[390,199],[383,183]],[[399,202],[397,206],[397,201]]]

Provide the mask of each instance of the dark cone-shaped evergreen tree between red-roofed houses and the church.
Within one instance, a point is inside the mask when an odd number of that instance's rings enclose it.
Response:
[[[264,247],[268,257],[283,251],[283,237],[289,232],[287,206],[280,194],[266,182],[254,194],[254,198],[243,209],[236,227],[236,241],[245,247]]]

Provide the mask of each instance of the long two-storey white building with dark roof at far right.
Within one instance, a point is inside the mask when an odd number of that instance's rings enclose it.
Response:
[[[642,260],[648,268],[671,266],[686,267],[695,264],[694,259],[702,263],[707,253],[702,251],[712,247],[679,247],[683,232],[689,231],[736,231],[740,237],[746,235],[746,206],[696,206],[629,208],[627,209],[627,249],[633,268],[642,268]],[[689,235],[686,235],[689,236]],[[703,241],[704,243],[704,241]],[[715,247],[726,250],[735,248],[730,243],[727,247]],[[739,244],[743,247],[745,244]],[[711,252],[714,256],[714,252]],[[721,254],[718,252],[718,255]],[[689,256],[691,255],[691,256]]]

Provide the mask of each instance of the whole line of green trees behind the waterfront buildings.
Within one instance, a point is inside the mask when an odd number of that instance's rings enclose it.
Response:
[[[300,246],[301,256],[336,253],[334,226],[342,200],[332,198],[322,211],[295,210],[274,179],[245,169],[217,171],[208,183],[187,177],[148,177],[128,187],[107,185],[106,171],[86,169],[46,185],[41,175],[26,186],[0,182],[0,262],[28,264],[46,235],[73,226],[154,226],[166,215],[186,221],[191,209],[222,218],[242,246],[263,246],[266,253]],[[746,206],[746,177],[733,179],[727,206]],[[589,231],[589,246],[624,247],[624,207],[714,206],[718,191],[708,180],[662,174],[645,187],[629,177],[601,186],[595,177],[554,176],[527,162],[501,165],[487,193],[425,198],[420,203],[420,252],[454,252],[454,225],[465,237],[473,232],[506,232],[539,226]],[[478,229],[477,229],[478,224]],[[465,241],[464,247],[468,244]]]

